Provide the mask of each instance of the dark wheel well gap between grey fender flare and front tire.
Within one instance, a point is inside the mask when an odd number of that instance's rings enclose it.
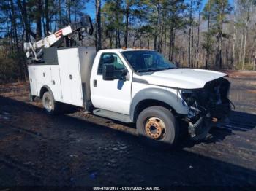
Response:
[[[140,103],[137,104],[137,106],[135,107],[133,121],[136,121],[140,112],[142,112],[143,109],[146,109],[149,106],[162,106],[162,107],[165,107],[166,109],[169,109],[173,114],[176,114],[175,109],[173,109],[170,105],[166,104],[165,102],[154,100],[154,99],[146,99],[146,100],[140,101]]]

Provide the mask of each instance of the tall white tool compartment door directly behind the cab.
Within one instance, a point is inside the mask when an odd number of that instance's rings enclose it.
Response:
[[[83,106],[78,48],[61,49],[57,51],[57,54],[62,102],[75,106]]]

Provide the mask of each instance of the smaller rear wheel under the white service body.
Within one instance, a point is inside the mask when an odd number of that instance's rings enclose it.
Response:
[[[42,95],[42,105],[45,108],[45,112],[48,114],[58,114],[58,104],[53,98],[53,95],[50,92],[45,92],[44,95]]]

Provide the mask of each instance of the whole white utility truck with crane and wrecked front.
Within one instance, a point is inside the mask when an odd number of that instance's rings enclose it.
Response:
[[[78,106],[134,122],[140,136],[173,145],[180,128],[192,139],[204,139],[212,124],[230,112],[227,74],[177,69],[153,50],[57,47],[60,39],[93,31],[89,17],[66,28],[67,34],[59,30],[25,45],[31,96],[42,98],[48,113],[61,112],[67,104]]]

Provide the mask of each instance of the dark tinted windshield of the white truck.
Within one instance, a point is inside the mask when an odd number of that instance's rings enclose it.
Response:
[[[150,50],[135,50],[122,52],[136,72],[161,71],[175,69],[175,64],[168,61],[163,55]]]

